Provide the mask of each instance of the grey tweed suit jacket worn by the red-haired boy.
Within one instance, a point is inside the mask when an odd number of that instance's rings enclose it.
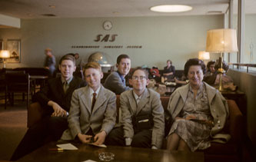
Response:
[[[90,127],[94,134],[98,134],[100,131],[105,131],[108,134],[115,125],[115,100],[115,94],[101,85],[95,107],[91,112],[89,87],[75,90],[68,116],[69,129],[62,134],[62,140],[74,140],[78,133],[86,134]]]

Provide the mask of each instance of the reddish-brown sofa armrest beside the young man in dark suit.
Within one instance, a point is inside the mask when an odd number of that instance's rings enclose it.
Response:
[[[43,109],[38,102],[34,102],[28,106],[28,124],[27,127],[32,127],[40,121],[43,116]]]

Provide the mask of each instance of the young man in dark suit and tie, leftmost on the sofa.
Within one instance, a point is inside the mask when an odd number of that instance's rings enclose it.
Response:
[[[59,61],[60,78],[48,80],[48,84],[33,96],[43,108],[43,118],[28,129],[16,148],[11,160],[18,160],[45,144],[45,141],[57,141],[68,127],[68,111],[71,95],[75,89],[85,86],[85,81],[73,76],[75,58],[65,55]],[[46,140],[48,139],[48,140]]]

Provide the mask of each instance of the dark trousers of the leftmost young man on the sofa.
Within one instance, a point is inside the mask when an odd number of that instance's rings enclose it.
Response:
[[[28,129],[12,154],[11,160],[18,160],[50,141],[58,141],[67,128],[67,117],[44,117],[42,121]]]

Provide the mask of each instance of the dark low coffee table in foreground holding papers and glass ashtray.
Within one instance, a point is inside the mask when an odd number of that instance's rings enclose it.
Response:
[[[111,161],[193,161],[203,162],[203,152],[184,152],[168,150],[152,150],[147,148],[135,147],[115,147],[108,146],[107,148],[95,147],[87,144],[74,144],[78,150],[64,150],[58,152],[52,150],[57,148],[56,143],[46,144],[31,154],[26,155],[20,161],[84,161],[95,160],[100,161],[98,154],[101,152],[111,152],[115,154],[114,160]]]

